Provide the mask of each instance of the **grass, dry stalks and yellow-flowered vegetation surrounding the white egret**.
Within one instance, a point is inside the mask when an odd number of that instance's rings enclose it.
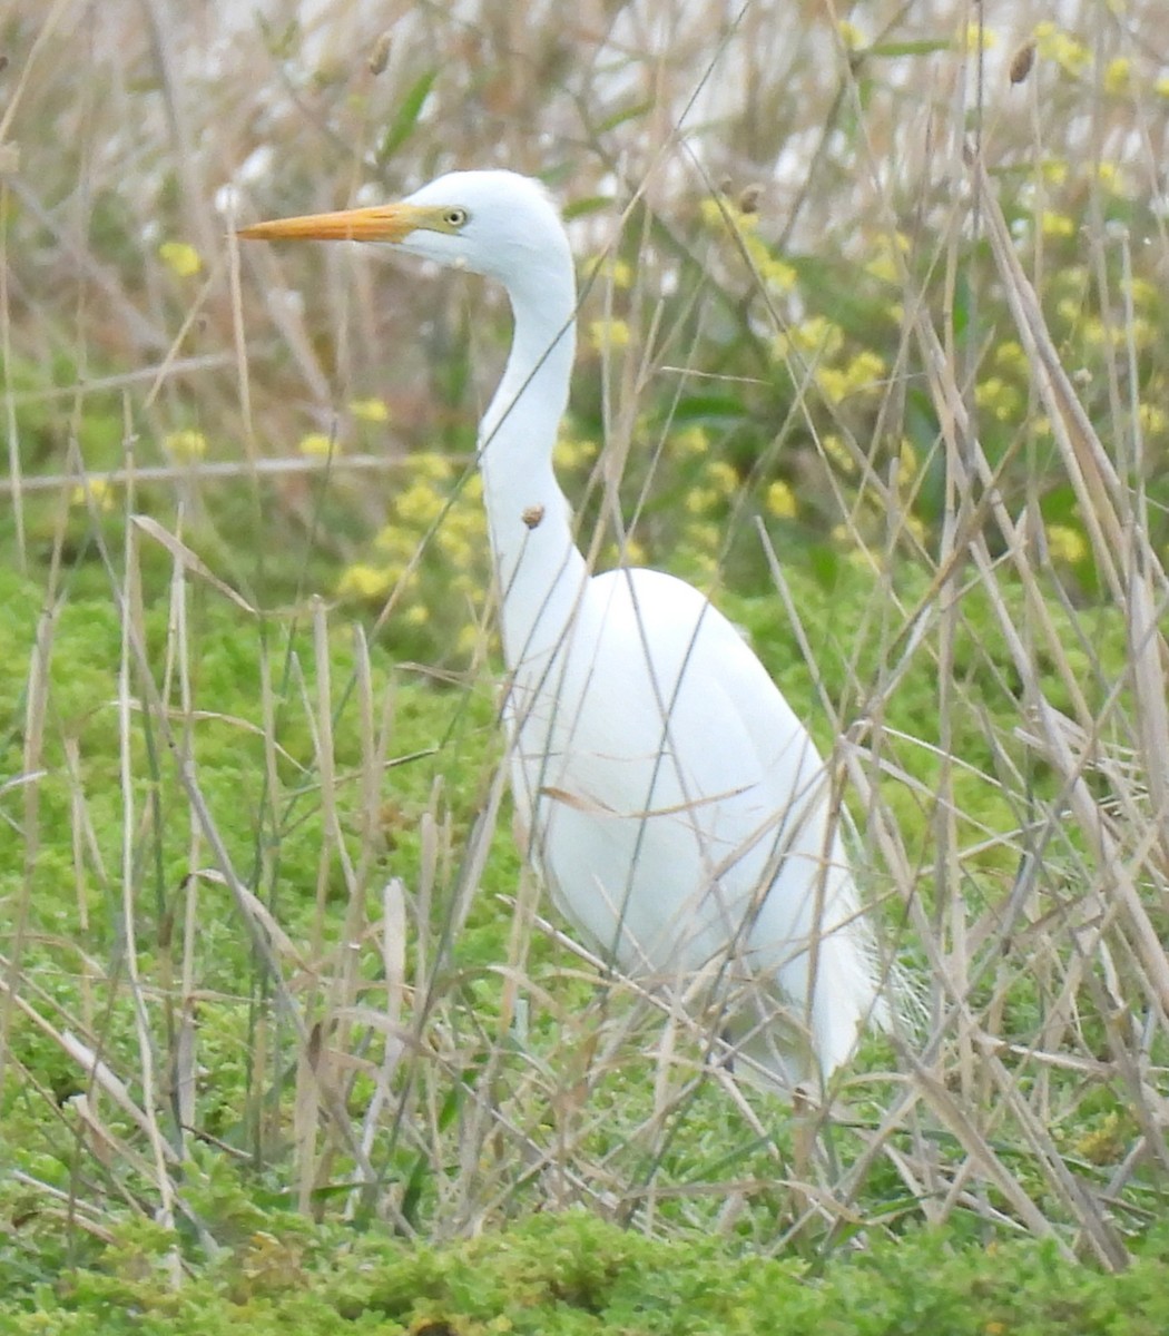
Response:
[[[1161,11],[5,9],[5,1329],[1166,1328]],[[231,236],[485,164],[580,257],[582,542],[847,782],[910,982],[822,1101],[518,866],[501,294]]]

